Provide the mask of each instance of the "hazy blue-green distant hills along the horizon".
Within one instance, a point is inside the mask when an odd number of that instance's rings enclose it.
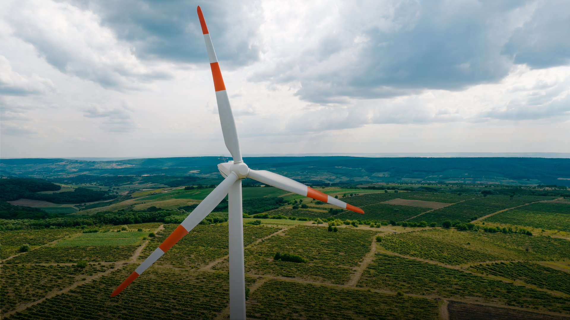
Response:
[[[558,184],[570,186],[568,158],[246,157],[252,169],[311,183],[421,182]],[[218,157],[141,158],[117,161],[1,159],[3,174],[55,178],[71,175],[170,175],[221,180]]]

